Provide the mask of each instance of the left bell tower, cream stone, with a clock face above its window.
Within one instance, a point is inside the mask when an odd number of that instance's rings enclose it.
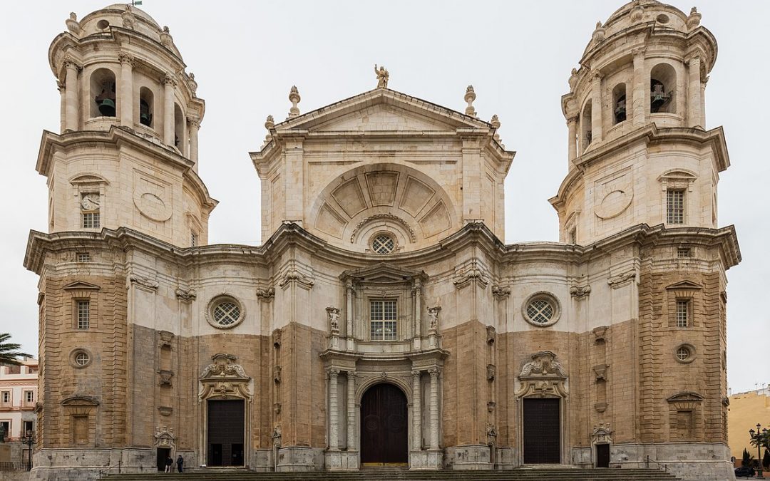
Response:
[[[49,48],[61,129],[43,133],[36,167],[49,232],[129,227],[206,243],[216,201],[197,175],[205,103],[169,28],[123,4],[65,24]]]

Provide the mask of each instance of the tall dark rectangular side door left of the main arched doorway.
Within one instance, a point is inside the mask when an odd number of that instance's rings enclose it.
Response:
[[[244,407],[243,399],[209,399],[208,466],[243,466]]]

